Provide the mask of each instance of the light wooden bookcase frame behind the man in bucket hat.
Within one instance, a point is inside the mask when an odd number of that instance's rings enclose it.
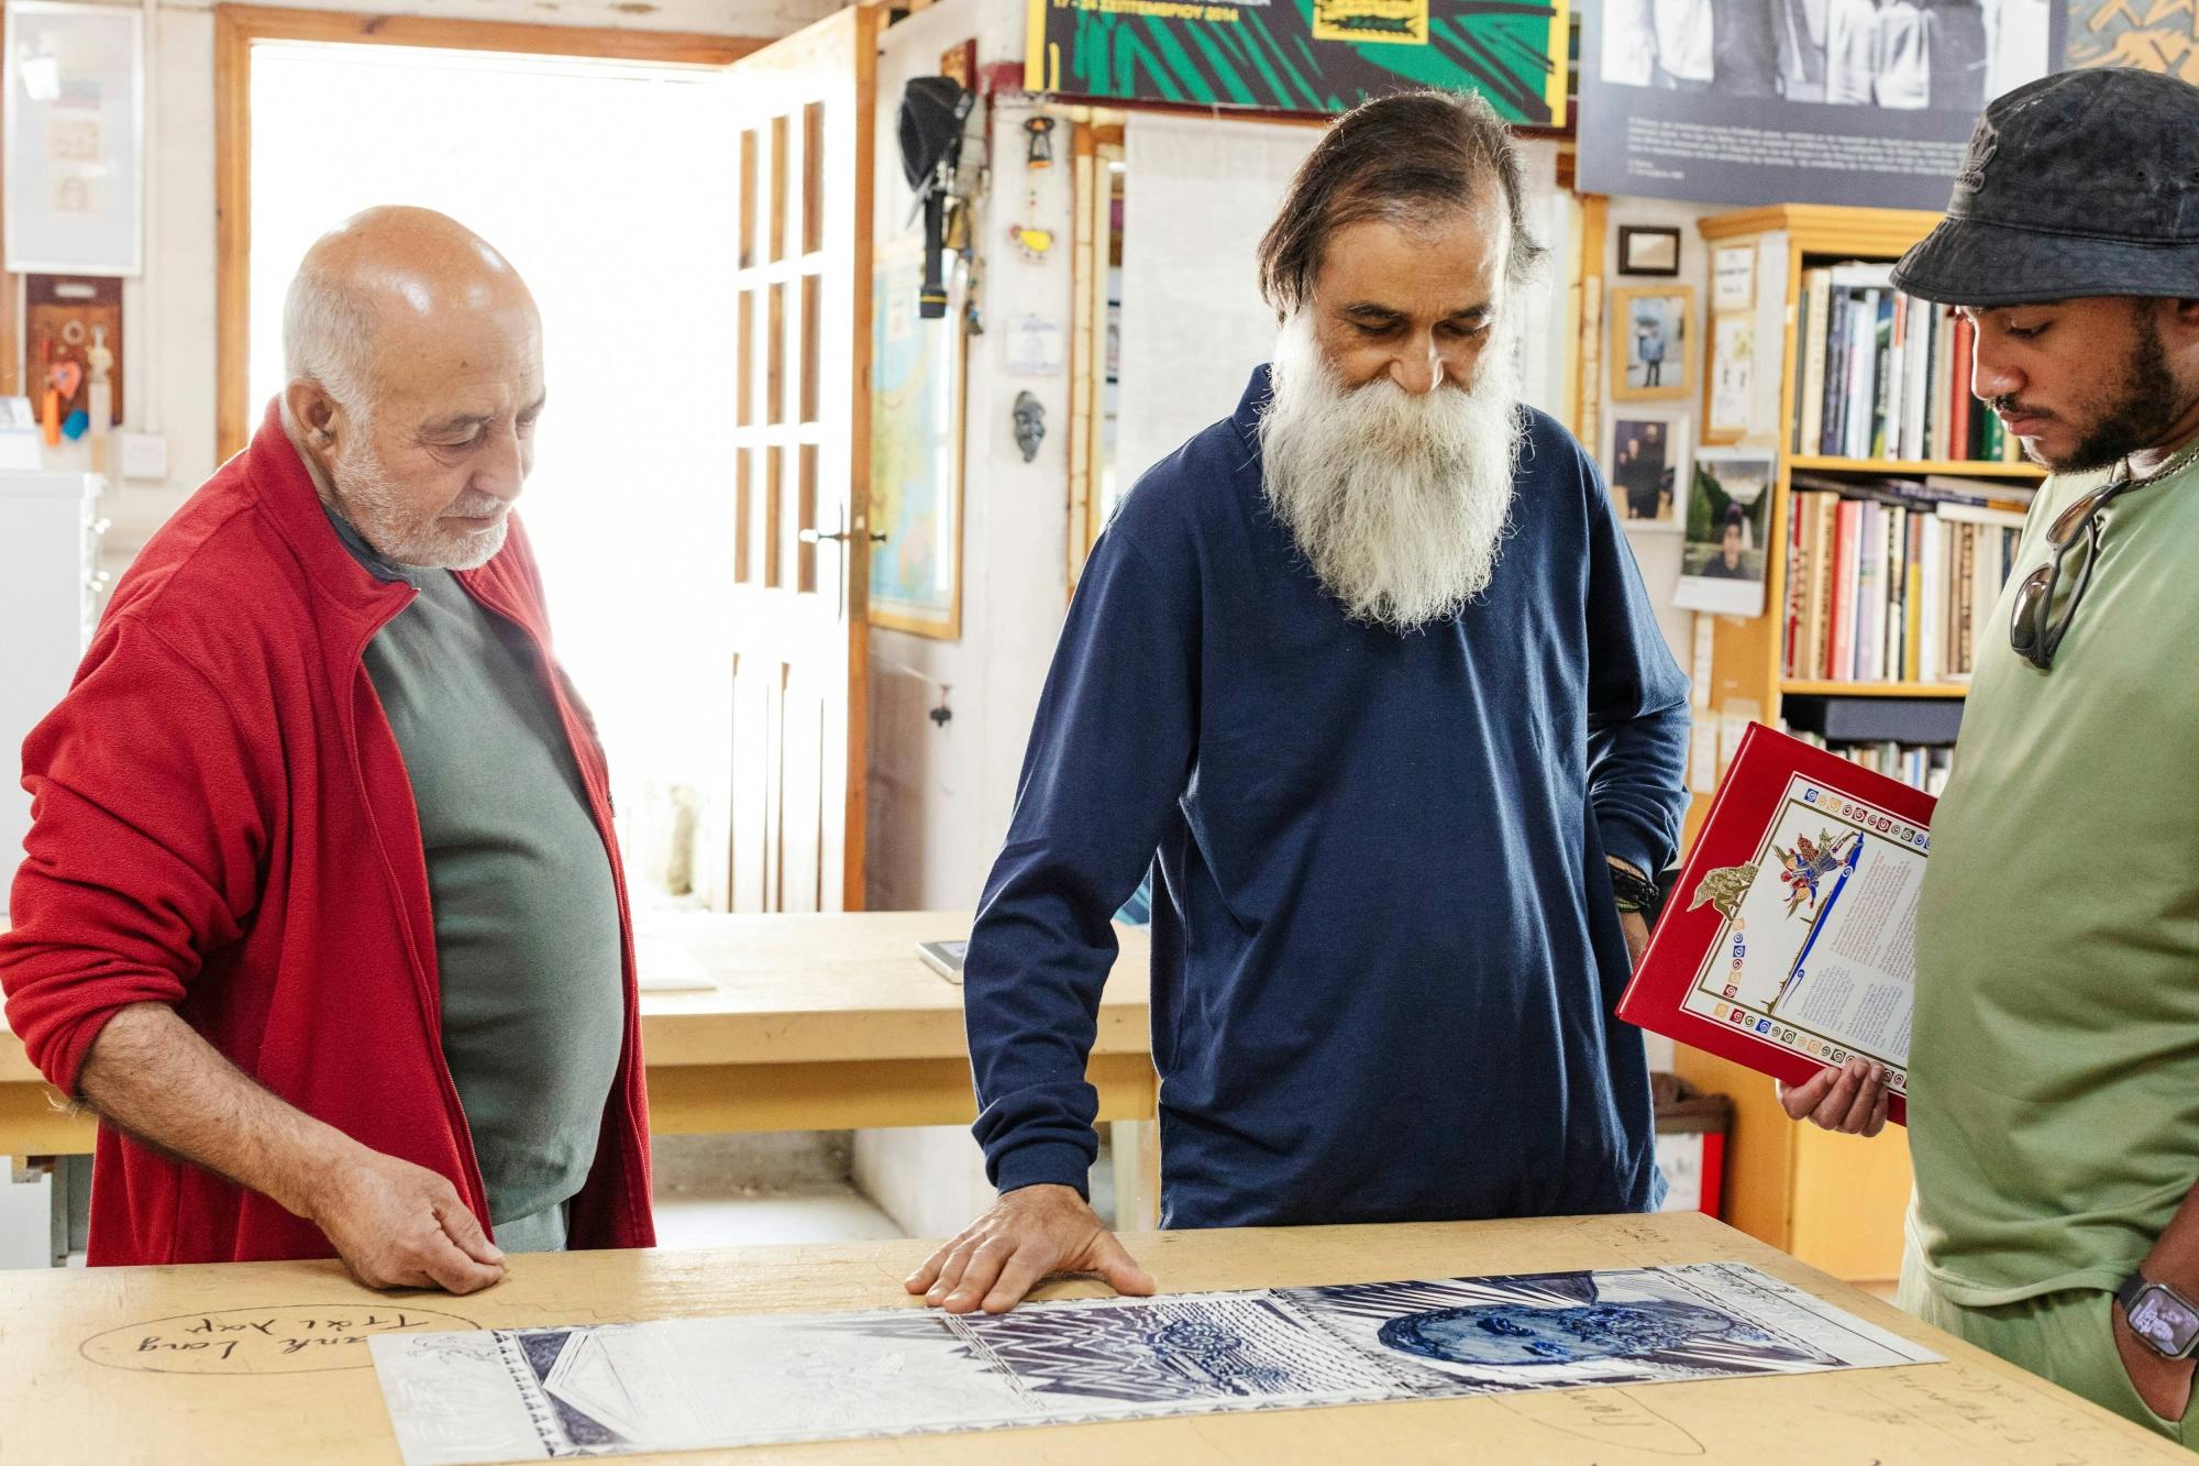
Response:
[[[1852,458],[1797,453],[1797,412],[1808,379],[1799,361],[1810,328],[1799,302],[1808,269],[1841,262],[1891,262],[1931,233],[1937,214],[1893,209],[1838,209],[1786,205],[1709,216],[1698,229],[1711,251],[1748,247],[1755,251],[1755,299],[1748,308],[1748,339],[1759,381],[1748,396],[1742,447],[1779,453],[1772,484],[1766,559],[1766,612],[1761,616],[1711,616],[1709,687],[1698,689],[1698,722],[1731,726],[1755,720],[1779,726],[1790,700],[1878,700],[1863,707],[1869,718],[1882,709],[1891,722],[1948,724],[1966,693],[1959,680],[1832,680],[1788,671],[1788,575],[1790,511],[1794,473],[1863,480],[1990,480],[2034,486],[2043,471],[2023,462],[1973,462],[1935,458]],[[1706,337],[1713,332],[1706,330]],[[1933,357],[1946,361],[1944,352]],[[1766,370],[1777,363],[1777,372]],[[1702,414],[1709,420],[1711,372],[1704,372]],[[1929,401],[1929,394],[1926,394]],[[1882,405],[1882,403],[1880,403]],[[1953,409],[1951,409],[1953,412]],[[1808,418],[1803,418],[1808,423]],[[1935,429],[1937,431],[1937,429]],[[1953,438],[1944,438],[1953,440]],[[1808,522],[1803,524],[1808,528]],[[1698,623],[1700,625],[1700,623]],[[1973,627],[1975,630],[1975,627]],[[1700,656],[1700,654],[1698,654]],[[1698,665],[1700,669],[1700,665]],[[1819,709],[1827,702],[1816,702]],[[1858,704],[1845,704],[1854,711]],[[1904,711],[1907,709],[1907,711]],[[1803,704],[1797,704],[1797,713]],[[1709,810],[1695,795],[1687,819],[1693,839]],[[1876,1140],[1825,1134],[1797,1125],[1779,1109],[1772,1081],[1711,1054],[1678,1048],[1678,1072],[1691,1083],[1733,1098],[1728,1138],[1726,1222],[1788,1250],[1836,1277],[1889,1283],[1900,1272],[1902,1219],[1909,1204],[1909,1147],[1900,1127]]]

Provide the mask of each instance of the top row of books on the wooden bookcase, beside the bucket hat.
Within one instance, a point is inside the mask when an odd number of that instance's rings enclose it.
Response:
[[[1794,453],[2021,462],[2023,445],[1970,396],[1977,328],[1893,288],[1891,264],[1803,271]]]

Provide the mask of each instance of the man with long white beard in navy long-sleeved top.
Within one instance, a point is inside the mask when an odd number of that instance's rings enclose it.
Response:
[[[1001,1200],[910,1292],[1152,1290],[1084,1193],[1108,913],[1148,865],[1165,1226],[1651,1204],[1612,1008],[1687,682],[1588,456],[1517,403],[1535,255],[1480,99],[1366,103],[1306,158],[1260,247],[1273,368],[1069,610],[963,980]]]

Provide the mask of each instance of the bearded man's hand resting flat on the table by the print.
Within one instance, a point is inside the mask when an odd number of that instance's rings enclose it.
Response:
[[[1097,1272],[1119,1294],[1148,1297],[1152,1274],[1115,1241],[1073,1186],[1020,1186],[908,1274],[932,1308],[1005,1314],[1049,1272]]]

